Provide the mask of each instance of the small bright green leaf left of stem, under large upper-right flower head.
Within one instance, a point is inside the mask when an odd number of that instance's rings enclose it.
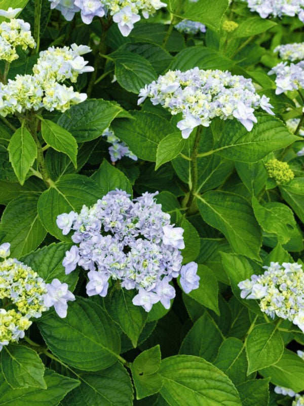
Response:
[[[155,170],[166,162],[174,159],[183,149],[185,140],[181,137],[180,132],[174,132],[163,138],[159,143],[156,151]]]

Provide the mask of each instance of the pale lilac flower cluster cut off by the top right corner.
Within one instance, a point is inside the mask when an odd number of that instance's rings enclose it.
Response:
[[[304,21],[304,0],[247,0],[247,3],[250,11],[256,11],[262,18],[297,15]]]

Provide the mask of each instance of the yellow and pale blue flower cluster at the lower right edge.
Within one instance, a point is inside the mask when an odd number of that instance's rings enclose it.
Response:
[[[241,297],[258,299],[262,312],[291,321],[304,332],[304,272],[298,263],[271,262],[262,275],[238,284]]]

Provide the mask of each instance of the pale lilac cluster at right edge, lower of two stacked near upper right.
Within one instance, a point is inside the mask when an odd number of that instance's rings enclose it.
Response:
[[[276,75],[276,94],[304,87],[304,61],[298,63],[280,62],[268,73]]]

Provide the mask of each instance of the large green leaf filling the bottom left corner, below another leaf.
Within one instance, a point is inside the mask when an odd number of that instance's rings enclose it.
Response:
[[[0,374],[0,406],[57,406],[67,392],[80,384],[79,381],[63,377],[50,369],[45,371],[44,378],[47,389],[12,389],[3,374]]]

